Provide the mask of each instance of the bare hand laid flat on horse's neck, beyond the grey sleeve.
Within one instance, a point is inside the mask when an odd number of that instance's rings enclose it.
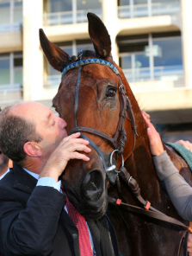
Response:
[[[146,115],[143,114],[143,117],[146,121],[147,135],[149,138],[150,149],[153,156],[158,156],[164,152],[164,147],[160,138],[158,131],[156,131],[155,127],[152,125],[150,120],[146,118]]]

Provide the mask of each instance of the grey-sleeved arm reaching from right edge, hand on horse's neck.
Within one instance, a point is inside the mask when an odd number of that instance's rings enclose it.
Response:
[[[158,177],[161,181],[164,181],[167,193],[178,214],[183,219],[192,221],[192,188],[185,182],[183,176],[180,176],[179,171],[164,151],[158,131],[156,131],[149,119],[145,116],[144,118],[148,126],[147,134]]]

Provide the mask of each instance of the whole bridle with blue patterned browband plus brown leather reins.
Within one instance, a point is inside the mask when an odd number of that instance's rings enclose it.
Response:
[[[110,156],[108,156],[104,152],[102,152],[102,150],[100,150],[100,148],[90,138],[88,138],[86,135],[81,133],[81,137],[88,140],[90,142],[91,147],[94,150],[96,150],[97,154],[100,157],[102,157],[103,167],[104,167],[104,170],[106,171],[106,175],[108,176],[109,182],[115,184],[115,181],[116,181],[118,192],[121,193],[121,185],[120,185],[120,181],[119,181],[119,175],[120,175],[121,178],[124,180],[124,182],[126,182],[128,187],[132,190],[133,195],[136,196],[138,201],[144,206],[145,209],[129,205],[127,203],[121,202],[121,199],[116,200],[115,198],[112,198],[112,197],[108,197],[108,202],[111,204],[119,205],[119,206],[120,205],[127,206],[128,208],[131,208],[136,213],[145,214],[154,219],[157,219],[160,221],[165,221],[165,222],[174,224],[177,227],[184,228],[185,230],[181,231],[178,236],[174,256],[179,256],[183,237],[185,237],[184,255],[187,256],[188,236],[189,236],[189,233],[192,233],[192,229],[190,227],[185,226],[182,222],[177,221],[176,219],[173,219],[173,218],[167,216],[166,214],[159,212],[155,208],[152,208],[151,203],[148,201],[145,201],[143,199],[143,197],[140,195],[140,189],[139,189],[138,183],[133,179],[132,176],[130,176],[130,174],[127,172],[127,169],[124,167],[124,159],[123,159],[122,154],[124,151],[125,144],[127,142],[127,133],[125,131],[125,118],[127,118],[131,122],[132,129],[133,129],[133,149],[130,152],[130,154],[128,155],[128,157],[130,157],[132,155],[134,147],[135,147],[136,136],[139,136],[139,135],[137,133],[137,126],[135,125],[135,118],[134,118],[134,114],[133,114],[132,105],[131,105],[130,99],[128,99],[128,96],[126,93],[126,88],[121,82],[121,75],[120,75],[119,71],[113,64],[109,63],[108,61],[103,61],[103,60],[99,60],[99,59],[82,60],[82,54],[80,54],[79,57],[80,57],[80,61],[74,62],[74,63],[70,64],[69,66],[65,67],[62,72],[62,79],[63,79],[65,73],[68,70],[70,70],[71,68],[78,67],[77,86],[76,86],[76,95],[75,95],[75,127],[71,129],[71,131],[69,132],[69,135],[71,135],[72,133],[77,132],[77,131],[87,132],[90,134],[94,134],[100,138],[106,139],[108,141],[108,143],[114,147],[115,150],[113,150],[112,153],[110,154]],[[100,64],[100,65],[107,66],[116,75],[119,76],[118,89],[119,89],[119,94],[120,94],[121,110],[120,110],[120,118],[119,118],[119,123],[117,126],[117,131],[115,132],[115,135],[113,138],[109,137],[106,133],[104,133],[102,131],[92,129],[90,127],[77,126],[78,94],[79,94],[79,88],[80,88],[82,67],[84,65],[88,65],[88,64]],[[129,118],[127,117],[127,112],[128,112]],[[119,139],[119,144],[117,145],[118,139]],[[113,157],[114,153],[121,155],[122,164],[121,164],[121,167],[119,168],[119,170],[117,170],[117,166],[116,166],[117,163],[115,161],[115,158]],[[117,156],[116,156],[116,158],[117,158]]]

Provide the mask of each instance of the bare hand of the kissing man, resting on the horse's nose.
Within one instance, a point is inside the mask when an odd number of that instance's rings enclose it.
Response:
[[[84,138],[78,138],[80,132],[71,134],[64,138],[59,146],[53,151],[52,155],[48,158],[43,170],[40,173],[40,177],[53,177],[58,182],[59,176],[65,170],[66,164],[70,159],[81,159],[89,161],[90,158],[77,151],[84,151],[90,153],[90,148],[87,147],[89,141]]]

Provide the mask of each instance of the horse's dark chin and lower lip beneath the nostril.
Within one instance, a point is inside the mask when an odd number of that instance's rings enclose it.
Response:
[[[83,195],[81,189],[73,184],[63,180],[66,194],[69,201],[77,208],[77,212],[84,216],[85,219],[98,220],[107,211],[108,208],[108,192],[107,186],[105,191],[98,200],[90,201]]]

